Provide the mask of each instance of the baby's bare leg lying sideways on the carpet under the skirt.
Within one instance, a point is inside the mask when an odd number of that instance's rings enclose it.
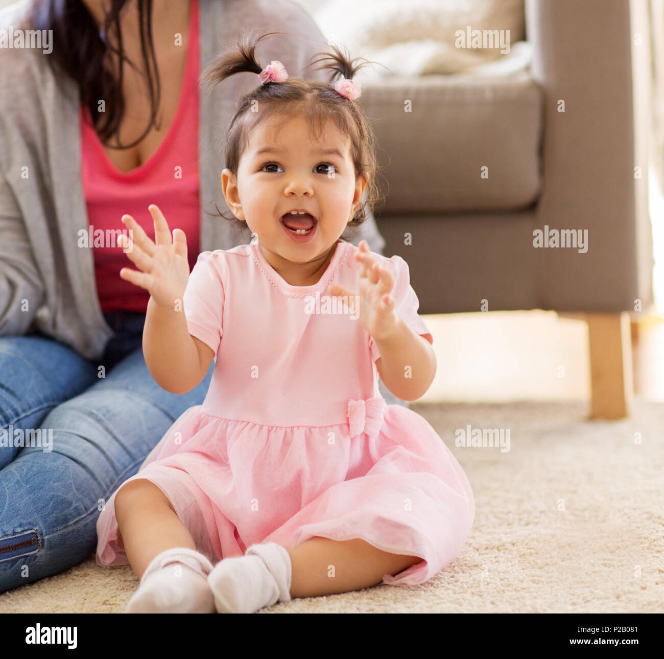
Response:
[[[382,575],[396,575],[419,563],[418,556],[392,554],[362,539],[312,537],[289,552],[291,597],[317,597],[374,586]]]

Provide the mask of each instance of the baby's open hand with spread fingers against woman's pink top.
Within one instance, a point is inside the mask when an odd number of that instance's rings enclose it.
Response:
[[[122,223],[131,229],[133,239],[122,236],[122,246],[129,248],[127,258],[142,272],[122,268],[120,277],[135,286],[145,288],[157,306],[173,309],[175,300],[182,300],[189,281],[187,236],[182,229],[171,230],[163,213],[154,204],[148,210],[155,224],[155,244],[131,217],[123,215]]]

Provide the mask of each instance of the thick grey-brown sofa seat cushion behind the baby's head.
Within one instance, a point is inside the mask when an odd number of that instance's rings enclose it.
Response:
[[[513,210],[537,201],[542,97],[529,71],[385,78],[363,84],[358,102],[376,134],[385,196],[378,213]]]

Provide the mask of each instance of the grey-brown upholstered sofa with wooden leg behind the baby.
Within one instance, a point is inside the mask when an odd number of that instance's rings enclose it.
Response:
[[[384,253],[410,266],[422,314],[584,314],[592,416],[620,418],[625,312],[652,302],[647,0],[526,0],[525,13],[527,71],[363,86],[386,195],[376,219]],[[533,246],[545,226],[586,230],[587,251]]]

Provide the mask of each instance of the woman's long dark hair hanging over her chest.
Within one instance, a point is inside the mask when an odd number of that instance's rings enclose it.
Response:
[[[53,50],[48,56],[48,64],[54,73],[72,78],[80,90],[81,102],[90,109],[94,128],[102,142],[114,136],[120,128],[125,112],[122,93],[122,62],[138,70],[125,56],[120,30],[120,17],[129,9],[131,0],[108,0],[110,9],[104,26],[100,30],[88,7],[82,0],[33,0],[28,21],[31,29],[52,30]],[[126,6],[125,6],[126,5]],[[150,97],[150,120],[145,132],[131,144],[117,144],[112,147],[128,149],[139,143],[156,122],[157,109],[161,97],[161,83],[155,60],[152,41],[152,0],[137,0],[138,21],[141,31],[141,53],[143,70],[147,74],[147,87]],[[114,35],[114,41],[108,39]],[[107,65],[111,52],[118,56],[118,76]],[[97,104],[104,99],[105,112],[98,112]]]

